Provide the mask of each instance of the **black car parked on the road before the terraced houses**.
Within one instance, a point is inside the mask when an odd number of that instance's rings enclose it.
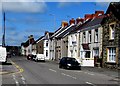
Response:
[[[63,57],[62,59],[60,59],[59,68],[81,70],[81,65],[80,63],[78,63],[78,61],[75,58]]]

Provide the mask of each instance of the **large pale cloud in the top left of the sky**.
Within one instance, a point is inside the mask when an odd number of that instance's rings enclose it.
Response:
[[[5,0],[2,2],[3,9],[10,12],[22,13],[44,13],[47,10],[45,2],[38,2],[37,0]]]

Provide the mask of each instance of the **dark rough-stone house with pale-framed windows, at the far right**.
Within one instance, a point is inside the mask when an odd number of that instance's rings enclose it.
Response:
[[[103,27],[103,67],[118,68],[120,65],[120,2],[110,3]]]

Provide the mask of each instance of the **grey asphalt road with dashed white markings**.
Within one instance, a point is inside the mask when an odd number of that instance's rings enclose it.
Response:
[[[118,80],[112,76],[87,70],[59,69],[58,64],[50,61],[34,62],[25,57],[8,59],[12,65],[3,65],[8,73],[2,75],[2,84],[77,84],[77,85],[117,85]],[[14,71],[14,72],[13,72]]]

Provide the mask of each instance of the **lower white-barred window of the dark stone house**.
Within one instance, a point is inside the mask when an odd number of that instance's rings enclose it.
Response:
[[[108,62],[115,62],[115,57],[116,57],[116,48],[111,47],[108,48]]]

